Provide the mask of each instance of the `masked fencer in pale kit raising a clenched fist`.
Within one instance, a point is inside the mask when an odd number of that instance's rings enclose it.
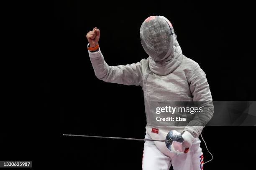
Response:
[[[165,140],[170,130],[182,133],[184,148],[189,151],[175,155],[165,143],[145,141],[143,170],[202,170],[203,154],[199,135],[211,119],[214,106],[205,72],[197,62],[182,54],[172,23],[163,16],[150,16],[143,21],[140,38],[148,58],[131,65],[109,66],[99,47],[100,30],[86,35],[92,67],[98,79],[123,85],[140,85],[146,112],[145,139]],[[195,54],[197,50],[195,49]],[[186,126],[154,123],[150,115],[151,101],[205,101],[200,119]],[[203,123],[202,123],[203,121]]]

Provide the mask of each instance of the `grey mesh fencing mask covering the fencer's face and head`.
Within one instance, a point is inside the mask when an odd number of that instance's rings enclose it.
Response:
[[[155,61],[164,60],[173,52],[174,29],[163,16],[148,17],[141,25],[140,37],[143,49]]]

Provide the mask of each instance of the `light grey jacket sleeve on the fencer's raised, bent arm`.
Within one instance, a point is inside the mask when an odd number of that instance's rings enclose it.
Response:
[[[123,85],[141,85],[142,71],[141,63],[137,62],[131,65],[109,66],[101,53],[89,52],[92,67],[98,79],[105,82],[113,82]]]

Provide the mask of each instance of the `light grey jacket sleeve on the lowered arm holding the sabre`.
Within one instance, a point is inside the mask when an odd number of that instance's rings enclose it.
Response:
[[[214,106],[205,72],[198,64],[189,72],[188,82],[193,102],[199,101],[197,103],[200,107],[203,107],[202,112],[195,113],[194,119],[188,123],[184,130],[189,131],[195,138],[198,138],[202,129],[212,118]]]

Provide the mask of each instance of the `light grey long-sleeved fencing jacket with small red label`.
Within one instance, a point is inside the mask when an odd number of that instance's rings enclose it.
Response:
[[[198,138],[204,125],[211,119],[214,106],[205,72],[197,62],[185,57],[177,39],[173,46],[173,54],[161,62],[150,56],[131,65],[109,66],[102,52],[89,52],[92,67],[98,79],[123,85],[140,85],[144,92],[146,130],[153,139],[165,140],[170,130],[187,130],[194,138]],[[152,118],[151,101],[205,101],[203,112],[185,126],[174,125],[174,122],[157,122]],[[151,129],[159,129],[152,133]],[[161,146],[159,145],[161,143]],[[166,147],[163,142],[156,142]]]

